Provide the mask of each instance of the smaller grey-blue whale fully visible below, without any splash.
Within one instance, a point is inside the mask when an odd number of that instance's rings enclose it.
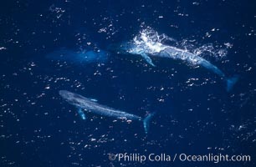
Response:
[[[69,104],[72,104],[79,109],[78,113],[82,119],[85,119],[85,114],[82,111],[82,109],[84,109],[86,111],[89,111],[95,114],[114,117],[117,119],[139,120],[139,121],[143,121],[143,126],[146,134],[148,133],[148,130],[149,130],[149,122],[152,116],[154,115],[154,113],[148,114],[145,119],[142,119],[140,116],[137,116],[135,114],[129,114],[117,109],[111,109],[110,107],[107,107],[105,105],[98,104],[97,102],[95,102],[95,100],[84,98],[84,96],[81,96],[79,94],[74,94],[67,90],[59,90],[59,95],[63,99],[65,99]]]

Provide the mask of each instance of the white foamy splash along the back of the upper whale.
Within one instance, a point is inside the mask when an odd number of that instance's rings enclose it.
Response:
[[[195,41],[195,40],[190,40]],[[132,41],[132,47],[128,49],[128,53],[141,53],[146,52],[149,54],[161,53],[166,47],[169,46],[168,43],[174,43],[173,47],[180,48],[181,50],[193,53],[200,57],[212,57],[216,60],[223,59],[227,56],[228,50],[232,44],[224,43],[225,47],[218,46],[213,47],[212,43],[207,43],[202,45],[201,47],[194,46],[187,39],[182,39],[181,41],[177,41],[174,38],[168,37],[166,34],[157,33],[154,29],[147,27],[140,31]]]

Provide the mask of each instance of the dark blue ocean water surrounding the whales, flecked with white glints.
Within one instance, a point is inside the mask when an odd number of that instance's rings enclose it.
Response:
[[[255,166],[255,8],[238,0],[5,2],[0,166]],[[202,52],[238,83],[227,92],[206,68],[159,57],[151,67],[140,55],[110,49],[146,28],[165,34],[168,46]],[[148,134],[140,121],[92,112],[83,120],[59,90],[143,118],[156,114]],[[250,160],[183,161],[181,154]]]

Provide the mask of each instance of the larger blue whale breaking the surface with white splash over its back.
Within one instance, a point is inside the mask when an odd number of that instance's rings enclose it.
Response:
[[[238,76],[228,78],[217,66],[195,53],[190,53],[185,49],[175,48],[161,43],[161,38],[158,33],[148,29],[141,31],[140,34],[133,39],[133,41],[121,43],[118,51],[120,53],[141,55],[141,57],[144,58],[147,63],[154,67],[156,65],[152,62],[150,56],[180,59],[183,62],[207,68],[213,73],[216,73],[220,78],[223,78],[223,80],[226,82],[227,91],[230,91],[233,88],[234,83],[238,81]]]

